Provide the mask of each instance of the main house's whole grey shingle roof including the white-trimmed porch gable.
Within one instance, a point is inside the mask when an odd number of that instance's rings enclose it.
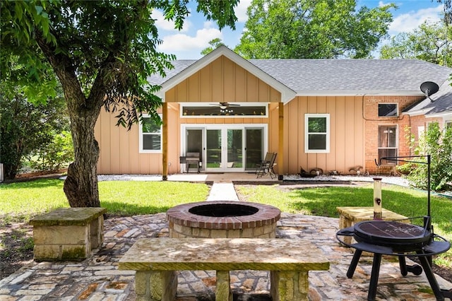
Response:
[[[451,68],[418,59],[250,59],[221,46],[199,60],[172,62],[166,78],[151,76],[150,83],[173,87],[211,61],[225,55],[276,90],[290,95],[423,95],[420,84],[442,85]],[[290,92],[292,91],[292,93]],[[283,93],[282,93],[283,94]]]

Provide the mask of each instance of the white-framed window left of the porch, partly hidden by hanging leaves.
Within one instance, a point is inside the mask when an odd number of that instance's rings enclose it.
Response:
[[[162,118],[161,115],[160,118]],[[160,153],[161,151],[162,126],[155,124],[149,115],[143,114],[140,124],[140,153]]]

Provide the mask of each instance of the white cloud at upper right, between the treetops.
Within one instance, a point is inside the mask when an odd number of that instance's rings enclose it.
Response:
[[[389,35],[398,33],[408,33],[419,27],[425,20],[436,22],[441,20],[440,14],[443,12],[443,6],[432,8],[422,8],[419,11],[410,11],[394,18],[393,23],[389,25]]]

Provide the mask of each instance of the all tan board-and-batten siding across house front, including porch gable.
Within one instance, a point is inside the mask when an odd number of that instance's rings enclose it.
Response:
[[[278,173],[295,174],[321,167],[346,170],[364,166],[362,96],[296,97],[284,105],[284,137],[279,143],[281,94],[226,57],[219,57],[165,93],[168,103],[168,174],[180,172],[181,124],[268,124],[268,151],[278,152]],[[178,102],[265,102],[268,118],[180,117]],[[330,153],[304,153],[304,114],[330,114]],[[162,174],[162,153],[139,153],[138,125],[116,126],[114,114],[102,110],[95,126],[100,144],[99,174]],[[283,170],[280,169],[283,163]]]

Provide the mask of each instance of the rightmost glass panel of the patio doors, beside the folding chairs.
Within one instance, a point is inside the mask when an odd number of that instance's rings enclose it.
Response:
[[[245,129],[245,170],[255,170],[256,163],[263,160],[263,129]]]

